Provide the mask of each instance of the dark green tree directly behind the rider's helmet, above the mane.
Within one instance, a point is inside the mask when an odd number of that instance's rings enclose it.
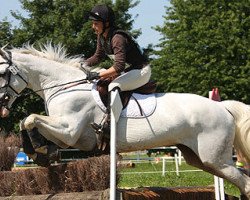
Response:
[[[30,43],[62,43],[72,55],[84,54],[89,57],[95,50],[96,36],[88,20],[88,11],[99,3],[111,6],[116,14],[118,25],[130,31],[134,22],[128,10],[138,4],[132,0],[79,1],[79,0],[20,0],[23,9],[29,13],[29,18],[13,13],[21,21],[21,28],[14,31],[15,46],[20,46],[27,41]],[[137,30],[135,36],[140,34]]]

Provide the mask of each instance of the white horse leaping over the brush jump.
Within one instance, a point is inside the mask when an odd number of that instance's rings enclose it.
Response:
[[[93,98],[93,84],[65,87],[65,83],[86,78],[74,67],[79,59],[66,58],[63,48],[51,45],[41,51],[30,46],[9,52],[2,49],[0,55],[1,117],[7,116],[7,108],[27,87],[44,99],[48,116],[31,114],[22,121],[22,129],[37,127],[62,148],[95,148],[97,139],[90,123],[101,121],[103,110]],[[227,179],[250,198],[250,178],[232,160],[234,145],[250,161],[249,106],[236,101],[215,102],[195,94],[155,96],[157,107],[151,115],[120,117],[117,151],[176,145],[188,164]]]

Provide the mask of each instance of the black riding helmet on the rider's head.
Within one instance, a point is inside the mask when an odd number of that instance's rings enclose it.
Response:
[[[109,25],[114,25],[115,22],[115,14],[114,11],[107,5],[97,5],[92,8],[91,12],[89,13],[89,19],[102,21],[102,22],[109,22]]]

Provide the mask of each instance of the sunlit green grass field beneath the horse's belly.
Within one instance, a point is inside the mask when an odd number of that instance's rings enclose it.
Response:
[[[140,156],[140,159],[148,159],[147,155]],[[175,173],[175,162],[168,160],[166,163],[166,173],[162,176],[162,161],[156,162],[156,157],[151,157],[152,160],[144,160],[143,162],[135,163],[134,168],[122,168],[119,172],[120,188],[136,188],[136,187],[182,187],[182,186],[213,186],[214,176],[203,172],[195,167],[187,165],[184,161],[179,166],[179,176]],[[126,157],[129,159],[129,157]],[[135,159],[135,157],[131,157]],[[189,170],[182,172],[184,170]],[[195,170],[195,171],[191,171]],[[224,181],[225,193],[233,196],[240,196],[238,188]]]

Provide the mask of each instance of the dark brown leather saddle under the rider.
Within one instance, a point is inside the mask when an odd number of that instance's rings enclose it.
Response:
[[[99,80],[96,85],[96,89],[99,92],[100,98],[106,107],[109,107],[109,92],[108,85],[112,80]],[[157,84],[156,81],[149,81],[145,85],[136,88],[131,91],[121,91],[120,98],[122,101],[123,109],[128,105],[129,99],[133,93],[138,94],[152,94],[156,92]]]

